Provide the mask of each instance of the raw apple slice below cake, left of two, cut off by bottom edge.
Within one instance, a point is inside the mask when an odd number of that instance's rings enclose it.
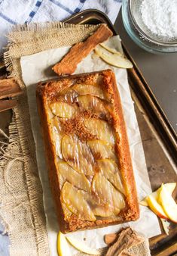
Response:
[[[66,240],[66,236],[64,236],[63,233],[61,233],[61,231],[59,231],[58,233],[56,243],[57,252],[60,256],[72,256],[72,253],[69,249],[69,244]]]

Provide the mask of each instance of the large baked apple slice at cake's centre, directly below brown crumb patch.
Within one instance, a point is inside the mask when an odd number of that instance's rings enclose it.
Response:
[[[63,136],[62,154],[65,161],[78,173],[94,175],[94,159],[90,148],[85,142],[81,142],[77,136]]]

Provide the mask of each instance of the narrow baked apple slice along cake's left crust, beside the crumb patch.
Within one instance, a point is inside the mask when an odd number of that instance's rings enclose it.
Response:
[[[60,135],[60,121],[57,120],[57,117],[53,117],[51,119],[50,131],[52,133],[52,140],[55,145],[56,155],[63,158],[61,151],[62,136]]]

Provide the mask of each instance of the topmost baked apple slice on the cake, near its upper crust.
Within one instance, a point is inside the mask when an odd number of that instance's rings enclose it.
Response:
[[[104,99],[104,93],[102,89],[99,86],[92,86],[87,84],[75,84],[75,86],[72,86],[72,89],[75,90],[75,92],[78,92],[79,95],[93,95],[99,98]]]

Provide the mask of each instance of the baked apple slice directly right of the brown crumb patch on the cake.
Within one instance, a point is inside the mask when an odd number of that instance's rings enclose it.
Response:
[[[84,125],[87,130],[93,135],[97,136],[98,139],[105,140],[109,144],[114,144],[114,136],[111,130],[111,126],[105,120],[96,118],[85,118]]]

